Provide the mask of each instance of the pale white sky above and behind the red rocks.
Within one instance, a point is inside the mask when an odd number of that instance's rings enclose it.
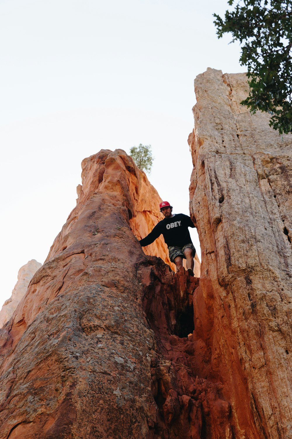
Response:
[[[193,79],[246,71],[231,36],[216,36],[212,14],[227,6],[0,0],[0,307],[19,268],[46,259],[76,205],[82,159],[102,148],[151,144],[151,184],[188,214]]]

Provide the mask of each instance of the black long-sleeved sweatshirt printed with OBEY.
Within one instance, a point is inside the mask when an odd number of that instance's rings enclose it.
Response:
[[[144,239],[141,239],[141,247],[152,244],[158,236],[163,234],[167,246],[183,248],[186,244],[192,244],[188,227],[195,227],[189,216],[177,213],[172,218],[164,218],[159,221],[154,229]]]

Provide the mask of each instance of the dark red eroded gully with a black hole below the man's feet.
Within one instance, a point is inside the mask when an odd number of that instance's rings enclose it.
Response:
[[[201,378],[203,371],[195,366],[193,295],[199,279],[184,270],[172,273],[152,256],[137,267],[137,274],[145,287],[143,308],[157,343],[157,356],[151,358],[151,389],[157,405],[153,438],[213,437],[214,423],[218,437],[234,438],[230,404],[220,398],[218,383]]]

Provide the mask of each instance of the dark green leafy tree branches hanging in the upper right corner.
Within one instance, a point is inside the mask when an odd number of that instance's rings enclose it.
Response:
[[[229,0],[232,6],[234,0]],[[270,126],[292,131],[292,2],[240,0],[225,19],[214,14],[218,38],[231,32],[241,43],[240,64],[248,69],[250,94],[241,102],[252,113],[271,114]]]

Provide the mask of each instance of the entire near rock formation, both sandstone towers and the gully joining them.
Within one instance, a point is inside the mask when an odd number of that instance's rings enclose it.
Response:
[[[195,84],[200,279],[144,255],[159,197],[133,160],[85,159],[77,206],[0,329],[0,439],[292,438],[292,137],[240,106],[244,75]]]

